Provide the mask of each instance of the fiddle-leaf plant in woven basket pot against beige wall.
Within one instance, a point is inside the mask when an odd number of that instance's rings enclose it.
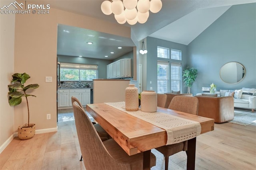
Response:
[[[30,76],[24,73],[15,73],[12,75],[11,84],[9,87],[9,104],[10,106],[17,106],[22,102],[22,97],[26,98],[27,108],[28,108],[28,124],[18,127],[18,137],[22,140],[30,139],[35,135],[36,125],[29,123],[29,107],[28,107],[28,96],[34,96],[32,94],[27,94],[28,89],[36,89],[39,87],[38,84],[29,84],[25,86],[26,80]],[[36,97],[36,96],[34,96]]]

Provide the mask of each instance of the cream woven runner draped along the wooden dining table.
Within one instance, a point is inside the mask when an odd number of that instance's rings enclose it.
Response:
[[[143,111],[127,111],[125,102],[105,103],[118,110],[124,111],[134,117],[147,121],[152,125],[165,129],[167,132],[166,145],[180,143],[197,137],[201,133],[201,125],[199,122],[191,121],[174,115],[168,115],[162,112],[143,112]]]

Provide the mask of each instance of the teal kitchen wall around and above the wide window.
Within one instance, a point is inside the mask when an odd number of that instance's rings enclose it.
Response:
[[[91,59],[86,57],[72,57],[65,55],[58,55],[57,57],[58,62],[98,65],[98,78],[107,78],[107,65],[112,63],[111,60]]]

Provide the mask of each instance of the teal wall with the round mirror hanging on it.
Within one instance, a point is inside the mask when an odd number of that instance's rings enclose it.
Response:
[[[228,62],[241,63],[245,78],[227,84],[220,68]],[[217,90],[256,88],[256,3],[234,5],[188,45],[188,65],[198,69],[193,95],[214,83]]]

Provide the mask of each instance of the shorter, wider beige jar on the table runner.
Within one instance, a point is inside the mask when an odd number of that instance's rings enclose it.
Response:
[[[146,90],[141,93],[141,111],[156,112],[157,110],[157,93],[152,90]]]

